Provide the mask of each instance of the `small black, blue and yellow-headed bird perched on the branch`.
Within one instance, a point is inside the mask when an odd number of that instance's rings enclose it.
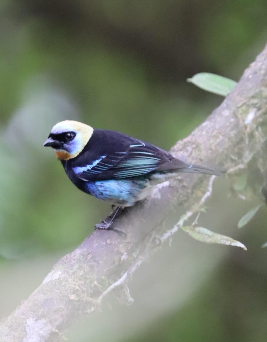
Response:
[[[54,149],[65,173],[83,192],[117,208],[95,228],[109,229],[125,207],[147,198],[156,184],[181,172],[221,175],[218,167],[193,165],[140,139],[116,131],[94,129],[73,120],[55,124],[43,146]]]

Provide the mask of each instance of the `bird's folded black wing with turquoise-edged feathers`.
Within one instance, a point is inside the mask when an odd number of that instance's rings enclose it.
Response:
[[[118,132],[96,130],[92,138],[80,162],[82,165],[73,167],[75,174],[85,181],[130,178],[157,169],[187,166],[159,147]],[[93,158],[96,152],[99,157]]]

